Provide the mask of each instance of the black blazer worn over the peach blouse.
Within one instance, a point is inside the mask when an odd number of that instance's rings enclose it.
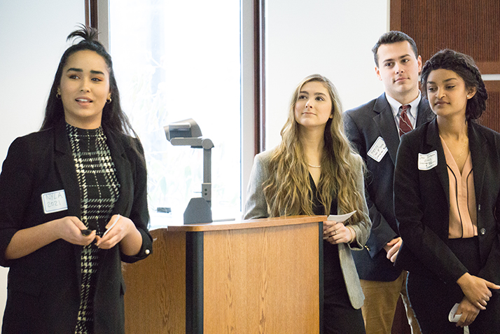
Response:
[[[500,134],[469,122],[468,142],[482,267],[478,276],[500,284]],[[419,154],[433,151],[437,166],[419,169]],[[394,174],[394,209],[403,238],[396,266],[447,284],[467,272],[447,246],[450,186],[436,120],[403,136]]]

